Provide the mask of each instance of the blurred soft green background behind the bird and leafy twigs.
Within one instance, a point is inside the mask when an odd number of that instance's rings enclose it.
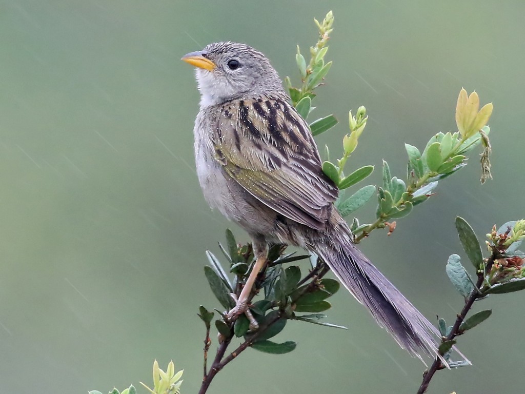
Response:
[[[311,119],[333,112],[341,120],[318,139],[338,152],[348,110],[366,106],[369,126],[350,167],[379,169],[385,158],[402,175],[404,142],[423,148],[432,134],[455,130],[461,87],[494,103],[495,179],[480,185],[473,153],[392,237],[378,231],[362,244],[429,319],[454,319],[463,301],[444,269],[448,255],[461,252],[454,217],[481,237],[523,216],[525,3],[7,0],[0,3],[2,392],[138,386],[151,382],[155,358],[162,368],[173,358],[185,369],[183,393],[197,391],[204,339],[197,307],[218,307],[204,251],[218,252],[232,225],[199,189],[192,136],[199,98],[180,58],[238,40],[297,82],[296,45],[308,53],[317,39],[312,19],[329,9],[333,67]],[[370,204],[359,216],[370,220],[374,210]],[[439,372],[429,392],[522,392],[524,295],[475,306],[494,312],[460,338],[474,366]],[[348,331],[291,322],[278,338],[296,340],[294,352],[249,349],[210,392],[415,392],[421,362],[350,295],[333,301],[330,321]]]

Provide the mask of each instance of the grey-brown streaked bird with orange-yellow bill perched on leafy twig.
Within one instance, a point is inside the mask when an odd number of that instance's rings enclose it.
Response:
[[[339,190],[268,58],[228,41],[182,60],[195,66],[201,94],[194,150],[204,197],[248,233],[254,250],[254,267],[227,317],[246,312],[268,245],[295,245],[320,256],[409,354],[440,357],[434,325],[353,243],[334,206]]]

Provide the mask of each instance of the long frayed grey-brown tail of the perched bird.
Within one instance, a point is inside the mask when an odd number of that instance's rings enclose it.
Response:
[[[355,247],[348,233],[327,235],[323,242],[312,243],[314,251],[376,322],[412,355],[438,355],[440,335],[434,325]]]

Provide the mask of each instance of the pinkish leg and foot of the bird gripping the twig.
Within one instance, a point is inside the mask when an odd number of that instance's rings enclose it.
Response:
[[[254,286],[255,279],[257,278],[257,274],[259,274],[261,268],[266,263],[266,255],[268,253],[268,246],[264,239],[256,239],[255,237],[253,241],[253,246],[254,246],[254,255],[256,259],[255,264],[253,268],[251,268],[250,275],[248,276],[248,279],[246,279],[246,283],[244,284],[239,297],[237,297],[235,294],[232,294],[232,298],[235,300],[235,307],[230,309],[230,311],[228,312],[226,316],[228,319],[232,319],[235,316],[244,313],[246,314],[246,317],[248,318],[250,322],[250,327],[256,329],[259,327],[259,324],[257,323],[257,320],[255,320],[254,316],[251,314],[250,310],[248,309],[248,298],[250,297],[251,288]]]

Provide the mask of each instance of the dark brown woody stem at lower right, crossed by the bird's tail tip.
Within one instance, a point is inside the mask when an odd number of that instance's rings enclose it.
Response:
[[[492,264],[494,264],[494,261],[496,260],[499,252],[497,250],[492,251],[492,255],[489,257],[486,265],[485,265],[485,272],[489,272],[492,268]],[[463,309],[461,309],[460,314],[456,318],[456,322],[454,323],[454,326],[450,330],[450,333],[447,335],[443,341],[454,339],[456,336],[458,336],[459,333],[459,327],[461,326],[461,323],[463,323],[463,320],[465,320],[465,317],[467,316],[467,313],[469,312],[470,308],[472,307],[472,304],[474,304],[475,300],[480,298],[480,292],[479,289],[483,285],[483,282],[485,281],[485,275],[484,273],[478,273],[478,281],[476,282],[476,288],[472,290],[470,295],[465,301],[465,306]],[[419,390],[417,390],[417,394],[423,394],[428,389],[428,384],[430,383],[430,380],[434,377],[434,374],[439,370],[443,369],[445,366],[443,365],[443,362],[439,357],[436,357],[430,368],[428,368],[425,373],[423,374],[423,381],[421,382],[421,386],[419,386]]]

